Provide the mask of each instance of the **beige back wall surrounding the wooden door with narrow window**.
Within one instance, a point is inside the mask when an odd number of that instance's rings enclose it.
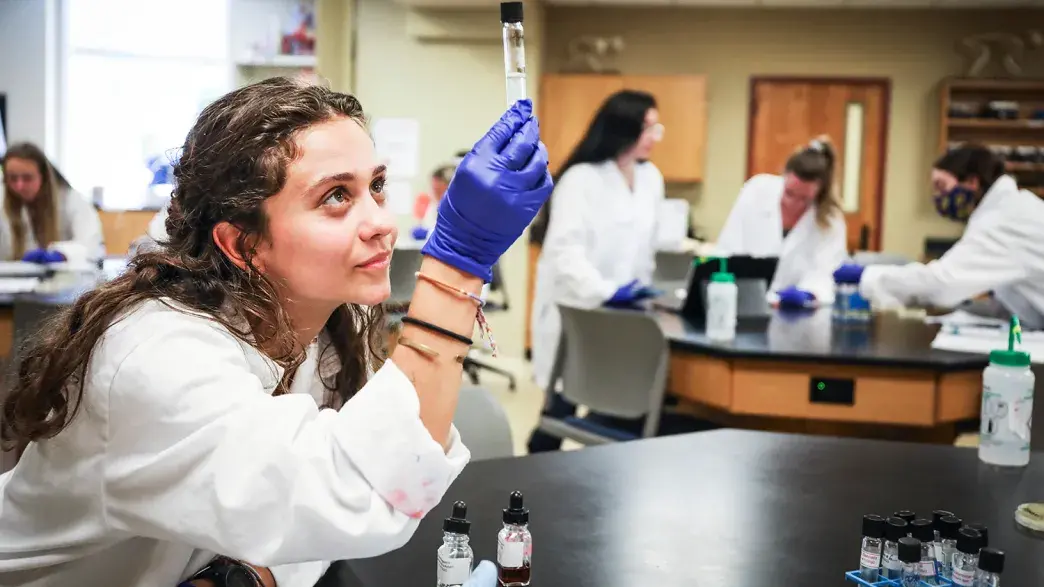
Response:
[[[696,226],[716,237],[746,172],[750,77],[754,74],[885,76],[893,81],[883,245],[919,256],[925,236],[959,234],[930,206],[927,173],[939,141],[939,81],[963,67],[957,40],[1024,31],[1044,10],[798,10],[548,8],[545,69],[567,61],[570,39],[622,34],[624,73],[708,76],[707,175]],[[1044,51],[1030,54],[1044,74]],[[669,133],[670,130],[668,128]]]

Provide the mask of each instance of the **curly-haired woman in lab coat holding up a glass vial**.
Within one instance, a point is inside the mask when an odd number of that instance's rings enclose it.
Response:
[[[65,310],[4,400],[28,445],[0,476],[0,584],[311,586],[440,502],[470,454],[474,297],[550,194],[547,151],[528,101],[475,144],[384,360],[397,235],[364,124],[279,77],[203,111],[165,243]]]

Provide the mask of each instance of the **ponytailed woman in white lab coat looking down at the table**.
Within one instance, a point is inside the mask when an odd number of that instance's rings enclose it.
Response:
[[[717,241],[717,255],[778,257],[768,301],[784,307],[833,303],[844,262],[845,215],[833,194],[835,154],[826,137],[799,149],[782,175],[746,181]]]

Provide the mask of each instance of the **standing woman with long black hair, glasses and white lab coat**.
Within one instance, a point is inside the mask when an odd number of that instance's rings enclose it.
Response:
[[[532,368],[542,389],[552,384],[562,332],[559,304],[594,308],[650,292],[664,182],[647,160],[663,132],[651,95],[618,92],[602,103],[562,166],[545,211],[532,306]],[[573,414],[575,407],[561,396],[551,394],[551,399],[546,415]],[[560,446],[560,439],[539,430],[529,441],[530,452]]]

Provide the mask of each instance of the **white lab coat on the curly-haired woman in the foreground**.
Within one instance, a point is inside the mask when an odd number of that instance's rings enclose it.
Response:
[[[282,370],[208,318],[149,301],[115,322],[72,424],[0,476],[0,585],[172,587],[220,554],[310,587],[405,544],[470,453],[432,440],[390,360],[319,409],[318,351],[272,397]]]

